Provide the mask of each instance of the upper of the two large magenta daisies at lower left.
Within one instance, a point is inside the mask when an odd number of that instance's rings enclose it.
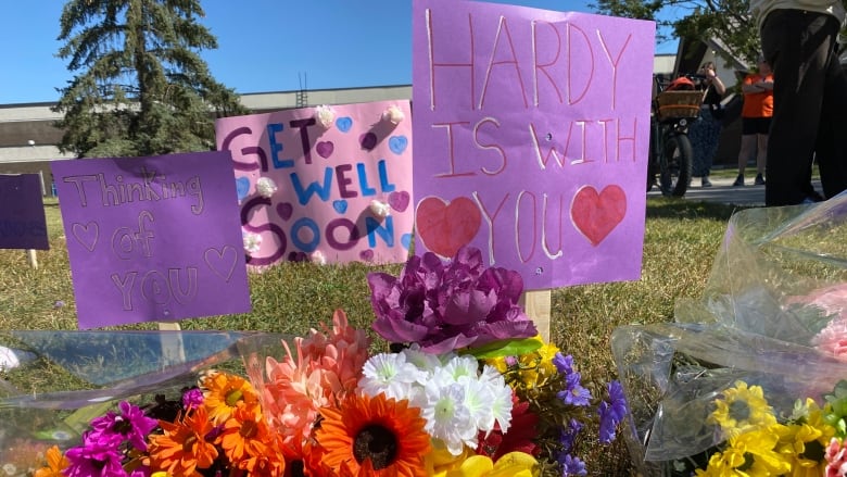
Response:
[[[144,415],[141,407],[126,401],[118,404],[121,414],[114,411],[91,420],[91,430],[86,432],[85,441],[99,442],[102,448],[117,448],[128,440],[139,451],[147,451],[147,436],[159,422]]]

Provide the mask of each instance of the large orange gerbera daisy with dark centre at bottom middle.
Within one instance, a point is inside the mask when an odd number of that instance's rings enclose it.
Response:
[[[426,476],[429,450],[426,419],[407,400],[380,393],[349,396],[337,407],[320,410],[324,420],[315,432],[321,462],[334,473],[368,476]]]

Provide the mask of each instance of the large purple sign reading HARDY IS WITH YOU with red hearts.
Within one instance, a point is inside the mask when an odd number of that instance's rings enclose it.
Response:
[[[471,1],[413,8],[416,252],[527,289],[637,279],[655,24]]]

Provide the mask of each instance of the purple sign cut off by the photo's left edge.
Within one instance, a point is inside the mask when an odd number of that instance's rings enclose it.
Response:
[[[50,249],[38,174],[0,175],[0,249]]]

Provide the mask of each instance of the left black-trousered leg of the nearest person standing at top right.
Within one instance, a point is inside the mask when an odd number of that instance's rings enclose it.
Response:
[[[762,51],[773,68],[773,118],[768,139],[766,205],[801,203],[808,193],[831,46],[821,35],[829,15],[776,10],[761,29]]]

